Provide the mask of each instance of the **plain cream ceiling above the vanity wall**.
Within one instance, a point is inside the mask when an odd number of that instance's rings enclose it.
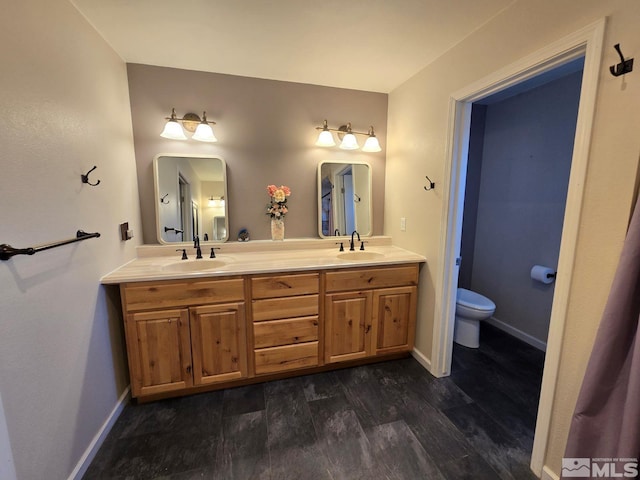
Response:
[[[514,0],[71,0],[128,63],[388,93]]]

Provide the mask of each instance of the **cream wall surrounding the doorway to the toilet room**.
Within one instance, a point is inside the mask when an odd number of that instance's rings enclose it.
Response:
[[[385,234],[428,259],[420,278],[416,347],[430,357],[433,325],[441,321],[434,319],[433,309],[440,281],[441,187],[450,95],[605,16],[605,57],[545,458],[555,472],[560,471],[571,415],[637,185],[640,73],[614,78],[608,66],[620,61],[612,48],[616,43],[621,43],[625,55],[636,59],[640,55],[640,2],[516,1],[389,96]],[[436,182],[434,191],[423,190],[424,175]],[[400,217],[407,218],[406,232],[400,231]]]

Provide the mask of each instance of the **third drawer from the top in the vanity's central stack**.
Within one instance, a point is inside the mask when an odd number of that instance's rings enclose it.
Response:
[[[253,325],[255,348],[277,347],[318,340],[318,317],[260,322]]]

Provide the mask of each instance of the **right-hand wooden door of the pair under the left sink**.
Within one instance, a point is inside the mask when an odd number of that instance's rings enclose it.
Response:
[[[195,385],[246,377],[244,303],[192,308],[191,349]]]

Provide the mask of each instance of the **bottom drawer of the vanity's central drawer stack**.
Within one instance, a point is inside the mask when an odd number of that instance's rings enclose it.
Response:
[[[318,365],[318,342],[261,348],[255,351],[256,374],[284,372]]]

